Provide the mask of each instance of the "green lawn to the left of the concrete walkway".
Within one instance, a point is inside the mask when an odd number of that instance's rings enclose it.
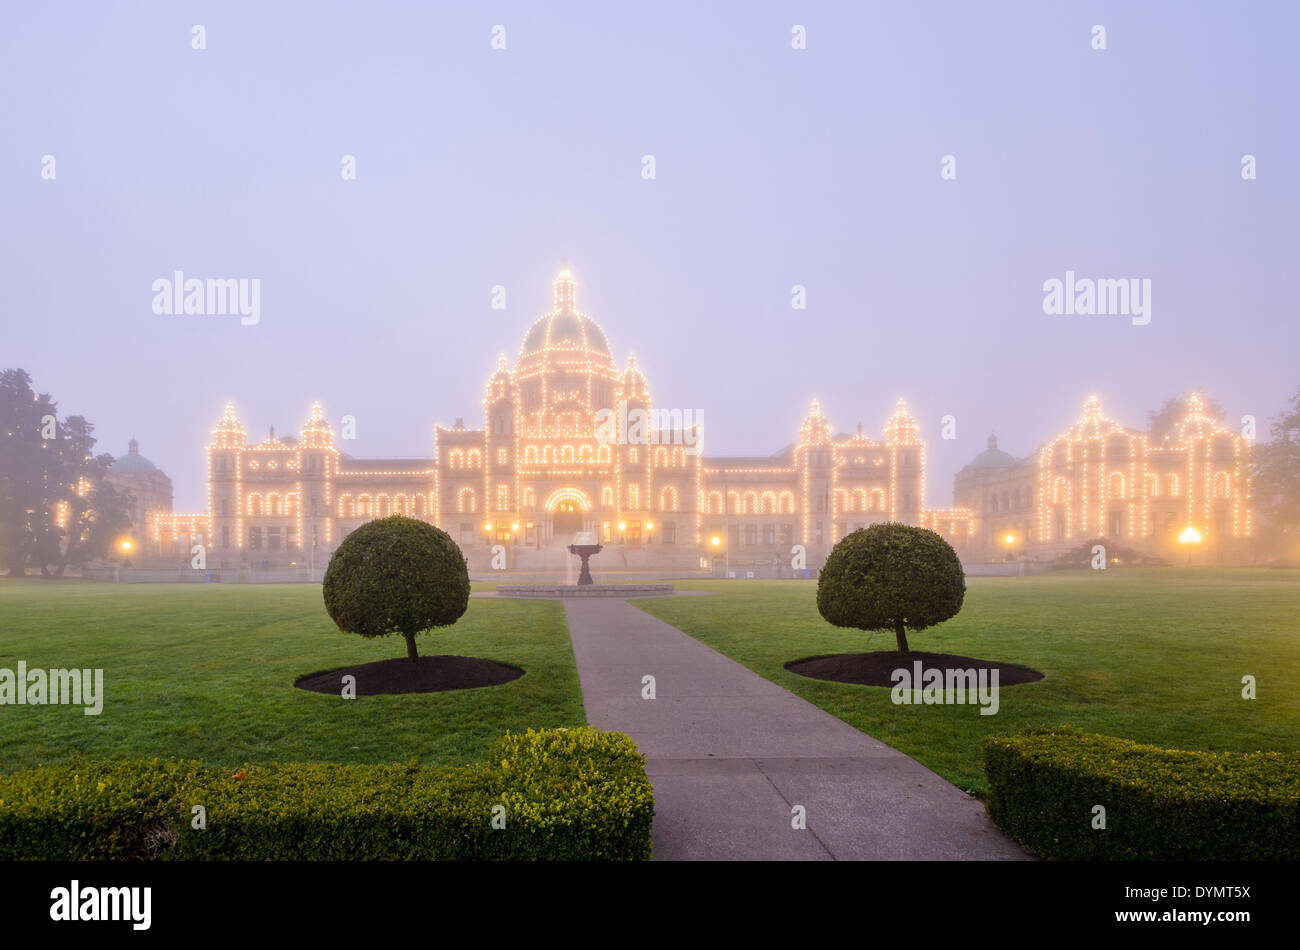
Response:
[[[477,587],[477,585],[476,585]],[[339,633],[317,585],[0,580],[0,668],[103,668],[104,711],[0,706],[0,772],[95,758],[462,764],[528,726],[585,724],[562,604],[471,598],[422,655],[521,667],[486,689],[344,700],[303,673],[404,656],[399,637]]]

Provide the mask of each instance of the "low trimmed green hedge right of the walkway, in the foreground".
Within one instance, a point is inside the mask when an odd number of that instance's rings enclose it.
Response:
[[[985,738],[984,771],[989,815],[1044,858],[1300,859],[1300,752],[1180,751],[1066,726]]]

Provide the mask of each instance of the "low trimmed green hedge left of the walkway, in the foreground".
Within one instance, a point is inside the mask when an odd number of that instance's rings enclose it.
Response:
[[[504,829],[491,827],[498,804]],[[155,759],[16,772],[0,778],[0,860],[640,860],[653,817],[630,738],[529,729],[460,768]]]

